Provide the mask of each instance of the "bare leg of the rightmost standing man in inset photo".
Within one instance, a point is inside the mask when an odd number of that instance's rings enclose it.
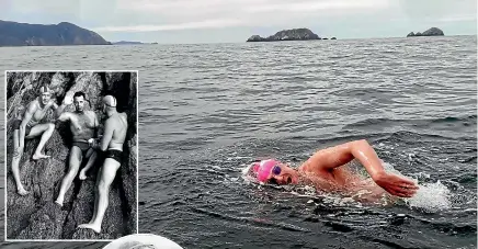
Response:
[[[98,206],[96,216],[89,224],[79,225],[79,228],[89,228],[95,233],[101,233],[101,223],[103,222],[104,213],[109,204],[110,186],[116,177],[116,171],[120,168],[120,162],[112,158],[106,158],[102,167],[100,182],[98,183]]]

